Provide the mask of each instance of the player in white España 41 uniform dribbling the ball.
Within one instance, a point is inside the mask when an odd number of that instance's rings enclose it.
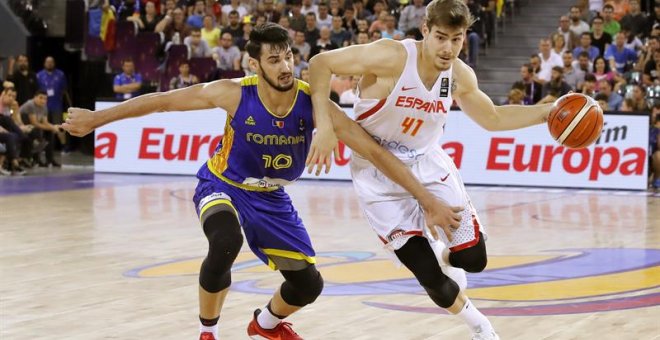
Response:
[[[425,229],[424,207],[359,154],[351,163],[353,183],[367,219],[386,249],[410,269],[431,299],[463,319],[473,339],[498,339],[488,319],[469,301],[456,268],[486,267],[486,231],[458,170],[440,148],[453,100],[486,130],[511,130],[546,121],[551,104],[494,106],[479,90],[473,70],[457,58],[474,22],[463,0],[433,0],[426,7],[422,41],[379,40],[321,53],[310,62],[316,110],[327,103],[330,77],[361,75],[355,119],[382,146],[407,164],[417,179],[447,205],[453,222]],[[338,136],[344,115],[334,115]],[[448,128],[452,128],[451,126]],[[429,235],[430,234],[430,235]],[[440,241],[435,240],[440,238]],[[449,268],[454,274],[449,274]],[[441,269],[442,268],[442,269]],[[443,270],[446,273],[443,273]],[[450,277],[446,274],[449,274]]]

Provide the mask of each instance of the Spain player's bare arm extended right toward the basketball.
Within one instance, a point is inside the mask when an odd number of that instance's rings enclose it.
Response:
[[[455,89],[452,96],[472,120],[489,131],[514,130],[542,124],[552,104],[495,106],[477,84],[472,69],[458,60],[454,63]]]

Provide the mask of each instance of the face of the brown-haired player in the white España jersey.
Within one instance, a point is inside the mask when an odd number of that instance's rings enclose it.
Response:
[[[422,33],[426,57],[433,60],[438,70],[449,69],[463,48],[465,29],[435,25],[429,29],[424,24]]]

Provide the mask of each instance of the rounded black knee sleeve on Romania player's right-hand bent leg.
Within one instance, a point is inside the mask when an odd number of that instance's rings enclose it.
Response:
[[[302,270],[282,270],[281,273],[286,281],[282,283],[280,293],[289,305],[306,306],[316,301],[323,291],[323,278],[313,264]]]

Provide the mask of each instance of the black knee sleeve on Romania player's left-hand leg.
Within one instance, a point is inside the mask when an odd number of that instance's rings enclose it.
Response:
[[[231,266],[243,245],[243,235],[233,212],[219,211],[205,216],[204,234],[209,252],[202,262],[199,284],[209,293],[217,293],[231,285]]]

